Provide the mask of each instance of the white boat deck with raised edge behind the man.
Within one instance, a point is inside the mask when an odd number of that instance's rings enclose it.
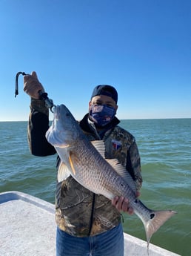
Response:
[[[56,255],[55,207],[18,191],[0,193],[0,255]],[[147,256],[147,243],[124,233],[124,256]],[[178,256],[150,244],[150,256]],[[117,255],[116,255],[117,256]]]

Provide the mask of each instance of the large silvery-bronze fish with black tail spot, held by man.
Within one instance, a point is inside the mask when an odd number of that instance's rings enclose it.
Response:
[[[127,197],[135,214],[144,223],[147,236],[147,247],[150,238],[175,211],[154,211],[144,206],[135,194],[135,183],[127,170],[116,160],[104,159],[103,142],[93,145],[65,105],[53,108],[53,123],[47,131],[47,141],[55,148],[61,158],[63,173],[59,178],[72,175],[85,188],[96,194],[102,194],[112,200],[115,196]]]

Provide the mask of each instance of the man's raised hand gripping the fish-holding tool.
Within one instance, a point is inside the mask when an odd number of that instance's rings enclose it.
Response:
[[[24,76],[24,91],[34,99],[39,99],[38,91],[44,92],[44,88],[38,81],[35,71],[33,71],[31,75]]]

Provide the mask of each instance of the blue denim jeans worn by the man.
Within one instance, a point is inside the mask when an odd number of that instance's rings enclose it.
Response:
[[[124,256],[122,226],[93,237],[73,237],[57,228],[56,256]]]

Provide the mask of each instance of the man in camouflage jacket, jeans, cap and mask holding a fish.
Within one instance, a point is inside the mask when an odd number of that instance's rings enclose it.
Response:
[[[36,156],[56,154],[45,133],[49,127],[48,109],[39,99],[44,88],[36,73],[24,76],[24,91],[30,95],[28,140],[30,151]],[[141,163],[135,138],[118,126],[115,116],[118,93],[110,85],[94,88],[89,112],[79,125],[89,140],[103,140],[105,155],[118,161],[130,172],[137,187],[141,188]],[[61,160],[57,157],[57,171]],[[139,194],[139,192],[138,192]],[[124,237],[120,211],[133,214],[128,199],[115,197],[112,202],[100,194],[87,190],[73,177],[56,185],[57,256],[123,256]]]

